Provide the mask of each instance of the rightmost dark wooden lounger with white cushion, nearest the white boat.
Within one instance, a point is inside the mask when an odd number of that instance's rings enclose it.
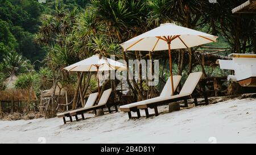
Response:
[[[179,95],[167,97],[162,100],[158,100],[156,102],[140,104],[137,106],[137,109],[145,110],[146,118],[148,118],[150,116],[148,114],[148,108],[154,108],[155,116],[158,116],[158,106],[161,106],[164,104],[168,104],[171,102],[177,102],[179,100],[184,100],[185,106],[187,106],[188,105],[187,100],[192,99],[192,98],[194,98],[194,102],[195,102],[195,104],[197,104],[197,98],[200,97],[200,94],[195,92],[195,88],[198,85],[202,74],[203,74],[202,72],[196,72],[196,73],[189,74]],[[207,96],[205,96],[205,104],[209,104]]]

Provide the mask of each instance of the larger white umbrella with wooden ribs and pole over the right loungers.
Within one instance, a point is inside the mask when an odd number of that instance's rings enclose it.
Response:
[[[191,48],[216,42],[216,39],[217,36],[176,26],[172,23],[165,23],[125,41],[121,46],[124,51],[163,51],[168,49],[172,81],[171,49]],[[174,93],[174,83],[171,82],[171,85],[172,93]]]

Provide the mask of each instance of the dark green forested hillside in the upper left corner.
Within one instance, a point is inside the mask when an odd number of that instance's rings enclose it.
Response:
[[[38,1],[0,1],[0,62],[12,51],[32,62],[43,59],[43,49],[33,41],[42,11]]]

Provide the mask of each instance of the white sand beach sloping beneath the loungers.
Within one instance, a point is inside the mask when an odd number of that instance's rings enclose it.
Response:
[[[256,143],[256,99],[138,120],[129,120],[124,112],[85,116],[93,118],[65,125],[61,118],[0,121],[0,143],[39,143],[39,137],[46,143]]]

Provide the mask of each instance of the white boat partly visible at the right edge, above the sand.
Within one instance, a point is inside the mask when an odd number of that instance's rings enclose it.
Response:
[[[256,87],[256,55],[232,53],[229,57],[232,60],[217,60],[221,69],[234,70],[228,80],[237,81],[241,86]]]

